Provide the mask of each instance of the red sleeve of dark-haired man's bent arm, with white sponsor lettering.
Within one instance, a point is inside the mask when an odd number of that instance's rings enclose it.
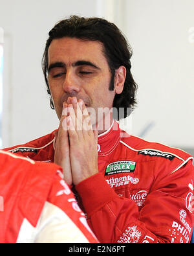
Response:
[[[118,196],[102,174],[82,181],[76,189],[100,242],[180,243],[189,242],[192,235],[193,180],[191,161],[158,176],[140,212],[133,200]]]

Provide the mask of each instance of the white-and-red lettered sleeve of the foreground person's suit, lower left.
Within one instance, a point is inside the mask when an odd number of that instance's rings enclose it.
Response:
[[[48,198],[34,227],[25,218],[17,242],[96,243],[98,240],[87,224],[85,215],[61,172],[54,177]]]

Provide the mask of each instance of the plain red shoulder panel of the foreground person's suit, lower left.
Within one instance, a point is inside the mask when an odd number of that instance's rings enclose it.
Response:
[[[36,226],[47,200],[52,178],[56,175],[56,168],[55,165],[46,168],[45,163],[36,163],[4,150],[0,150],[0,166],[3,167],[0,189],[5,207],[2,211],[4,218],[2,215],[0,218],[0,240],[16,242],[16,234],[23,218]]]

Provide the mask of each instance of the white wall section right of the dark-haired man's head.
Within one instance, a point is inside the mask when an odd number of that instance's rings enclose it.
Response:
[[[133,134],[194,148],[194,1],[127,0],[138,108]]]

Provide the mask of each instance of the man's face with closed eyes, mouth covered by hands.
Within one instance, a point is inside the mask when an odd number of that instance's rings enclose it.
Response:
[[[51,42],[48,84],[59,119],[68,97],[82,99],[95,111],[112,108],[115,91],[109,90],[110,81],[111,72],[99,41],[65,37]]]

